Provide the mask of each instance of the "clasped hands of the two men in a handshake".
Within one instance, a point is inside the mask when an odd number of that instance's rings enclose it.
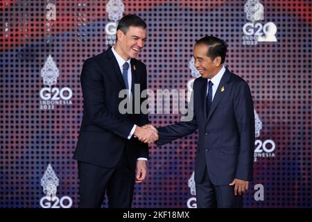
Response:
[[[144,126],[137,126],[133,135],[139,139],[139,141],[151,144],[159,139],[158,130],[149,124]]]

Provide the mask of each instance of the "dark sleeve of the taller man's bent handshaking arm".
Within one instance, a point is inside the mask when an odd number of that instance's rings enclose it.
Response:
[[[89,119],[97,126],[127,139],[134,124],[116,117],[106,109],[104,78],[95,60],[85,61],[80,83],[83,89],[83,105],[87,112],[85,114]]]

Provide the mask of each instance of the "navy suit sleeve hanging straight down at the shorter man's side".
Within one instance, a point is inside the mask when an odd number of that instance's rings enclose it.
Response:
[[[239,129],[240,147],[236,176],[240,180],[252,180],[254,156],[254,106],[247,83],[239,85],[234,99],[234,115]]]

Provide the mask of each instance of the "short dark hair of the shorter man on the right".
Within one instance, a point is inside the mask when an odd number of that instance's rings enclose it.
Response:
[[[202,37],[196,42],[195,45],[205,44],[208,46],[207,56],[214,60],[217,56],[221,57],[221,64],[225,62],[225,56],[227,55],[227,44],[220,40],[218,37],[212,35]]]

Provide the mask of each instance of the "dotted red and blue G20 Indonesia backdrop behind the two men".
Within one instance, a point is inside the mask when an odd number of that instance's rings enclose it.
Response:
[[[193,44],[216,35],[225,66],[248,81],[256,113],[245,207],[311,207],[311,1],[9,1],[0,3],[0,207],[77,207],[72,160],[84,60],[114,44],[116,22],[148,24],[148,87],[188,89]],[[165,126],[179,114],[150,114]],[[150,146],[133,207],[196,207],[198,134]],[[51,196],[53,198],[51,198]],[[106,206],[106,203],[103,204]]]

